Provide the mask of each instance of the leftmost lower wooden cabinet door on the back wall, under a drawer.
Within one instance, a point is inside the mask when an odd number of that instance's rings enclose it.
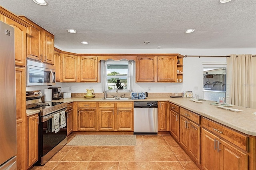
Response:
[[[96,108],[78,109],[78,130],[97,130]]]

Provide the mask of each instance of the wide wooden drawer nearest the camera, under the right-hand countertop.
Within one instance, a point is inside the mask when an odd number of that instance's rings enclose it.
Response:
[[[222,139],[226,139],[236,146],[248,151],[248,136],[232,130],[231,128],[224,127],[218,123],[210,121],[209,119],[202,119],[203,128],[206,128],[210,132],[217,134]]]

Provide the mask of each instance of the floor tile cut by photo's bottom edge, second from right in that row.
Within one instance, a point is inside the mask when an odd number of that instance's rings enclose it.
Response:
[[[180,162],[149,162],[151,170],[184,170]]]

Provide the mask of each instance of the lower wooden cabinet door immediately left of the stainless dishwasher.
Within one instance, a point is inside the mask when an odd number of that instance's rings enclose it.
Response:
[[[133,130],[133,109],[118,108],[117,109],[117,130]]]

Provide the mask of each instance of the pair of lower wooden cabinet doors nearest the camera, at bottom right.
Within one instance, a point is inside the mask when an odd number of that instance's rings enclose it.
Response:
[[[202,169],[247,170],[248,154],[203,128]]]

